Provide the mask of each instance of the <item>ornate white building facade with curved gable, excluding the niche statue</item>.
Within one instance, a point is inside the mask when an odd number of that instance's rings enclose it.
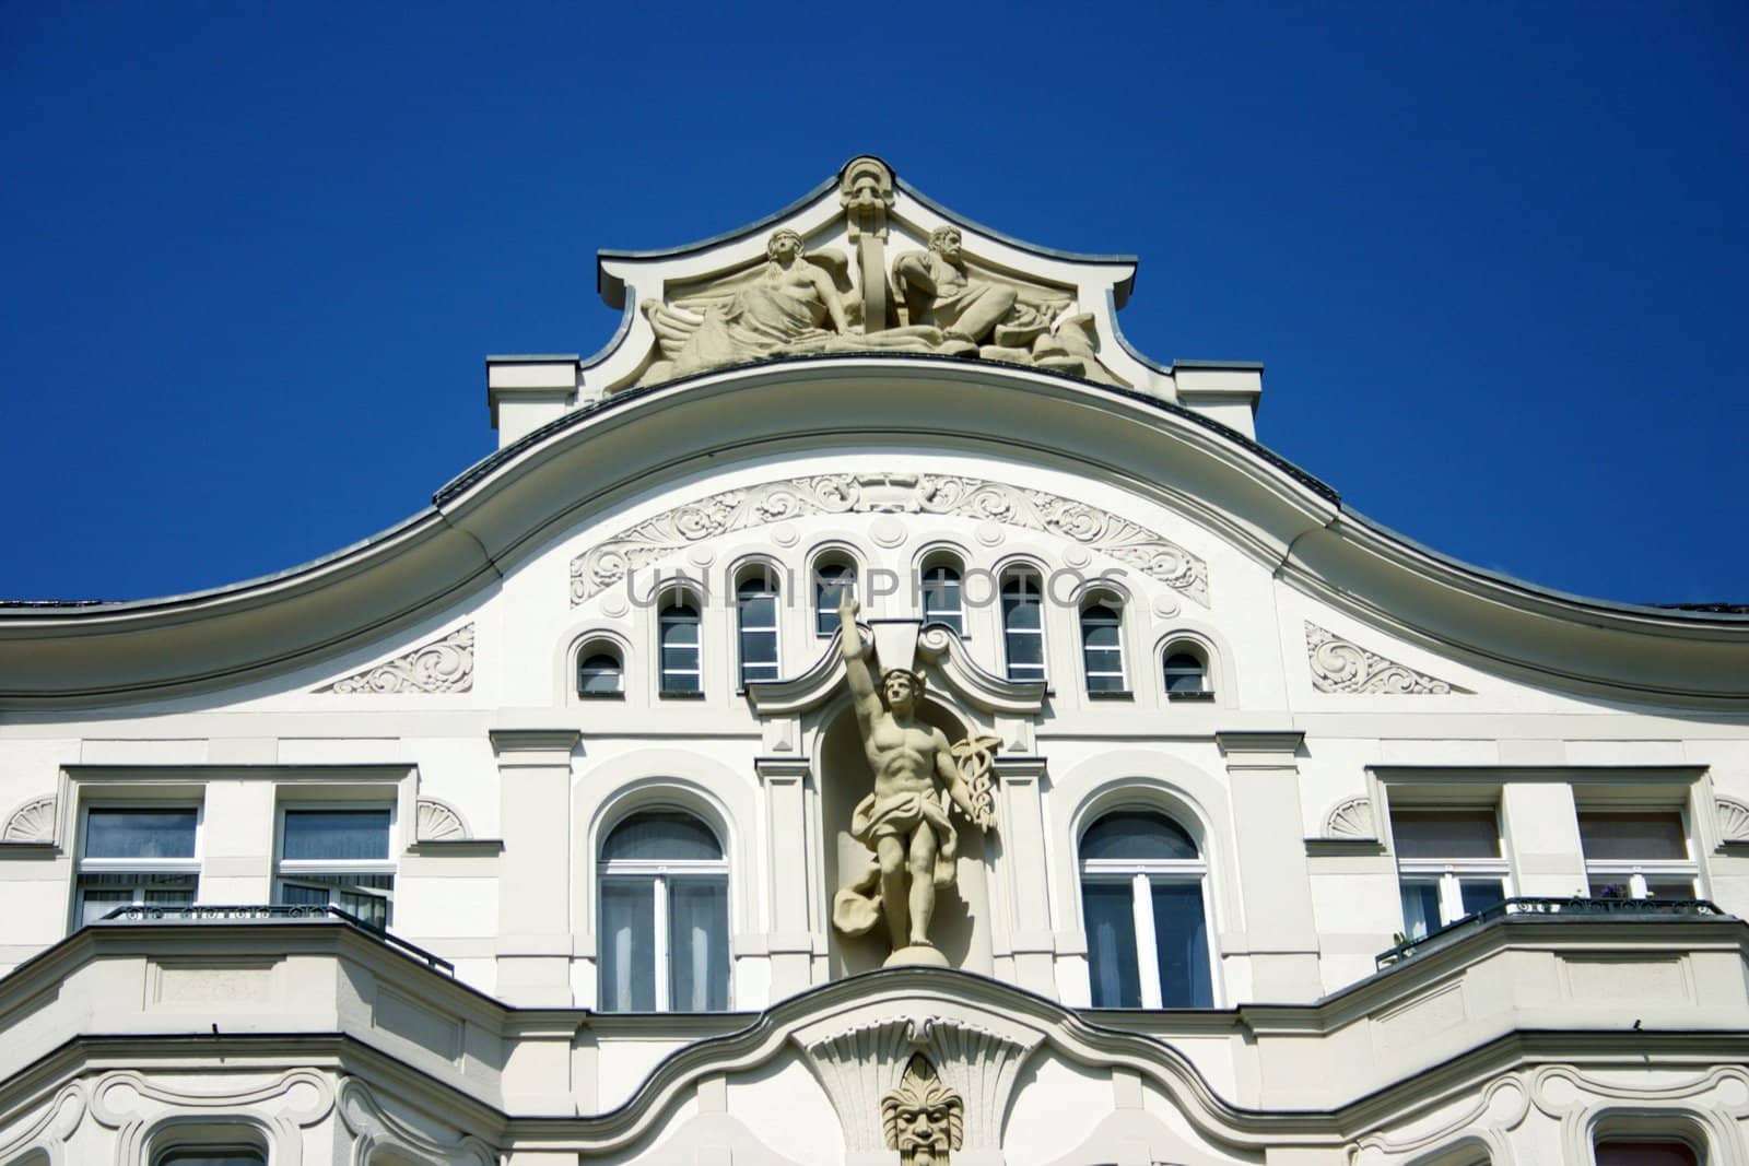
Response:
[[[0,1166],[1749,1163],[1749,615],[1355,516],[1133,271],[855,159],[383,535],[0,608]]]

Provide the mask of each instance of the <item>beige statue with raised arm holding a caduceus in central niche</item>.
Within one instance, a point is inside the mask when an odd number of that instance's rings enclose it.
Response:
[[[862,935],[887,916],[895,956],[888,963],[944,963],[929,942],[929,920],[936,911],[936,890],[953,886],[958,836],[939,788],[946,788],[953,806],[985,830],[995,827],[993,799],[988,788],[974,795],[948,736],[916,718],[922,675],[888,668],[874,687],[857,612],[861,605],[848,596],[838,607],[840,652],[874,792],[850,815],[850,836],[873,851],[874,862],[866,874],[850,872],[833,900],[833,921],[847,935]],[[962,753],[964,746],[962,741]],[[988,743],[983,759],[988,762]],[[908,954],[901,956],[902,951]]]

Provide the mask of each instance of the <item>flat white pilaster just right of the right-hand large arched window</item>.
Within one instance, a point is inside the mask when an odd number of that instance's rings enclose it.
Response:
[[[1216,743],[1233,797],[1252,996],[1317,1000],[1324,988],[1300,822],[1298,753],[1305,734],[1216,732]]]

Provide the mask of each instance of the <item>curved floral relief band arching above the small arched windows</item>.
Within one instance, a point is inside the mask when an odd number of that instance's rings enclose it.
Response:
[[[574,607],[584,603],[691,542],[808,514],[951,514],[1042,530],[1107,554],[1209,607],[1209,565],[1163,535],[1042,489],[946,474],[820,474],[689,502],[572,559],[570,601]]]

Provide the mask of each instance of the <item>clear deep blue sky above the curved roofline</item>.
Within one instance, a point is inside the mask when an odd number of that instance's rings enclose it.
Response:
[[[754,16],[754,12],[764,16]],[[1460,559],[1749,601],[1749,3],[0,0],[3,598],[283,570],[593,353],[596,248],[873,152]],[[878,30],[871,35],[869,30]]]

